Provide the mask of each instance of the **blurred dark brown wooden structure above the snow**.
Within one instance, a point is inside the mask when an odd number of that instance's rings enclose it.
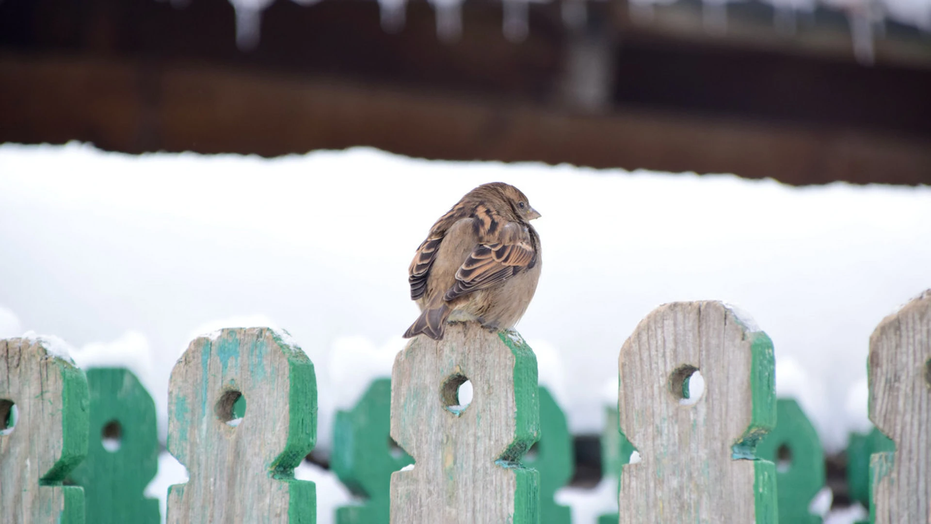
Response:
[[[371,0],[277,0],[237,37],[226,0],[0,0],[0,142],[931,184],[931,33],[873,11],[445,12],[438,28],[425,1],[391,18]]]

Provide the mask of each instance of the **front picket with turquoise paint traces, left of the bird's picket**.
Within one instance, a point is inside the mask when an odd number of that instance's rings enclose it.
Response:
[[[239,392],[247,410],[238,425]],[[287,336],[263,327],[196,338],[171,371],[168,448],[187,466],[169,488],[169,524],[313,524],[313,482],[294,467],[314,448],[314,365]]]

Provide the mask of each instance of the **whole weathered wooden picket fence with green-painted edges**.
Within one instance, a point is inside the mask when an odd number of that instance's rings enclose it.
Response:
[[[931,290],[877,326],[868,368],[876,430],[852,437],[851,495],[870,522],[929,523]],[[823,452],[802,409],[776,399],[774,348],[758,327],[720,302],[667,304],[627,338],[618,369],[602,448],[620,511],[600,524],[820,521],[807,508],[824,486]],[[316,428],[314,365],[287,334],[196,338],[169,382],[168,449],[190,478],[170,487],[167,521],[316,522],[315,486],[293,474]],[[155,524],[142,493],[157,453],[155,405],[130,372],[85,373],[40,341],[0,340],[3,522]],[[337,414],[331,466],[365,502],[336,521],[569,524],[554,494],[572,454],[523,339],[453,324],[441,341],[412,339],[391,379]]]

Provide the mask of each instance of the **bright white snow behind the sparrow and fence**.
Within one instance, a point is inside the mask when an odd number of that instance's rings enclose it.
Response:
[[[367,148],[259,159],[0,145],[0,337],[54,335],[78,365],[128,365],[155,397],[164,441],[169,372],[191,338],[287,329],[317,366],[326,451],[334,410],[390,373],[416,316],[414,249],[468,189],[495,180],[543,214],[543,276],[519,330],[576,434],[601,431],[601,392],[645,314],[714,298],[773,338],[779,393],[799,397],[836,451],[869,426],[870,332],[931,287],[929,187]]]

